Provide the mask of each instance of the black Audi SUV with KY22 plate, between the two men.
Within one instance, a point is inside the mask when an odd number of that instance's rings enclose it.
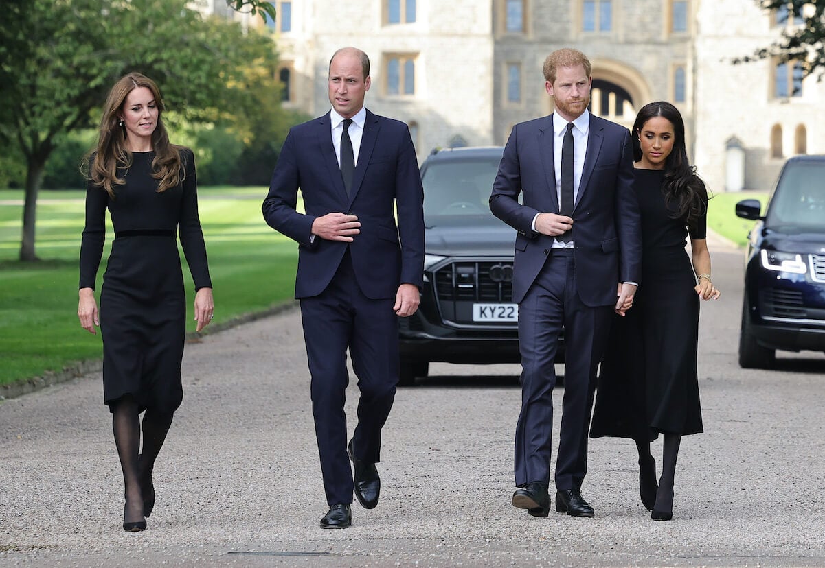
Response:
[[[430,361],[518,363],[515,229],[488,207],[504,148],[433,151],[421,167],[426,252],[421,305],[399,320],[400,384]]]

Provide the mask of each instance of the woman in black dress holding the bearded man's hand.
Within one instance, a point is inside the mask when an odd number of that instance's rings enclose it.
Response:
[[[642,214],[642,282],[634,308],[617,317],[596,391],[591,437],[634,439],[639,495],[656,520],[670,520],[681,437],[702,432],[696,354],[699,301],[718,299],[710,277],[708,195],[687,159],[685,123],[652,102],[633,125],[634,189]],[[691,256],[686,253],[691,238]],[[662,434],[662,476],[650,443]]]

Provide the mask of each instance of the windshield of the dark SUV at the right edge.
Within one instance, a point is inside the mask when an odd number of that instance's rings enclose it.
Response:
[[[791,163],[782,171],[766,223],[821,231],[825,224],[825,161]]]

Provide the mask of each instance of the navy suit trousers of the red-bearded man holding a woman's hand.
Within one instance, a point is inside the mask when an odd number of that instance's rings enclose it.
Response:
[[[519,303],[521,414],[516,425],[516,486],[549,482],[554,363],[564,331],[564,396],[556,457],[559,490],[580,489],[587,473],[587,429],[596,368],[605,348],[611,306],[590,307],[577,294],[573,251],[553,249]]]

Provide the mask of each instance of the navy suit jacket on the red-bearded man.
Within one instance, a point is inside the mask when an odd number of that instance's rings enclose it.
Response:
[[[530,289],[554,241],[531,228],[536,214],[559,214],[553,145],[553,115],[516,124],[493,182],[490,209],[518,232],[514,302],[521,302]],[[590,116],[582,180],[571,216],[579,298],[587,306],[613,305],[619,282],[641,284],[642,277],[639,203],[625,127]]]

